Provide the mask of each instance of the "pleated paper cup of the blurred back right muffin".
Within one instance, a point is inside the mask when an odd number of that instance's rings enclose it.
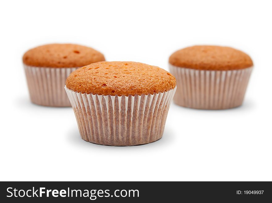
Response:
[[[174,102],[197,109],[227,109],[243,103],[253,67],[240,70],[195,70],[169,64],[176,77]]]

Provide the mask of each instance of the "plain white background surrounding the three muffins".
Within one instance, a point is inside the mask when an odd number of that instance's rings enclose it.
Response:
[[[272,180],[271,2],[2,1],[0,180]],[[108,61],[168,70],[194,44],[227,45],[254,61],[244,104],[205,111],[172,104],[164,136],[131,147],[80,138],[71,108],[30,103],[22,56],[76,43]]]

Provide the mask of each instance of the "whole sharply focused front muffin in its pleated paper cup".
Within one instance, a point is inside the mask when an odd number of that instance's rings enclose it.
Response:
[[[103,61],[72,72],[65,89],[83,140],[132,146],[162,137],[176,79],[157,66]]]

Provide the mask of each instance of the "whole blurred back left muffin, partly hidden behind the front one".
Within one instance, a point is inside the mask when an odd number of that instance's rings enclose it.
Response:
[[[28,50],[23,65],[30,99],[44,106],[71,106],[63,88],[71,72],[105,61],[102,53],[77,44],[47,44]]]

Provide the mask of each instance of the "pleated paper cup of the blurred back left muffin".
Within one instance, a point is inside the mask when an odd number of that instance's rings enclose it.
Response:
[[[46,68],[24,64],[31,101],[44,106],[71,106],[63,86],[66,78],[76,69],[78,68]]]

